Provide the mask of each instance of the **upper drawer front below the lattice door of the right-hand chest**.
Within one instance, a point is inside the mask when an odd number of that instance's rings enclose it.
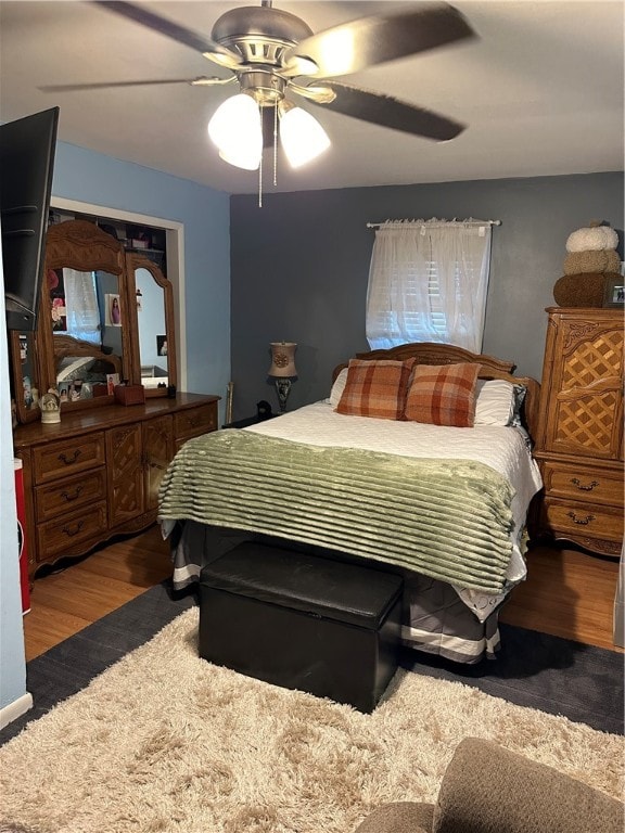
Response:
[[[544,463],[545,489],[551,497],[573,498],[586,503],[623,505],[623,475],[598,467]]]

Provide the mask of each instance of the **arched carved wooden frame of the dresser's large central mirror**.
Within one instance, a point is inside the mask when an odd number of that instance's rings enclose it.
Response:
[[[131,317],[131,305],[128,302],[128,280],[126,275],[126,252],[122,243],[111,234],[102,231],[95,223],[87,220],[66,220],[50,226],[46,239],[46,274],[41,282],[40,313],[37,324],[37,341],[39,342],[39,377],[41,383],[40,395],[50,387],[56,387],[56,355],[68,355],[68,344],[76,343],[76,351],[73,355],[86,355],[85,343],[73,339],[72,336],[55,336],[52,332],[52,322],[48,313],[50,294],[46,275],[50,269],[68,267],[77,271],[104,271],[114,274],[118,279],[119,306],[122,321],[127,322],[122,332],[122,379],[132,377],[132,330],[136,326],[136,318]],[[136,312],[136,311],[135,311]],[[60,350],[55,348],[54,339],[59,337]],[[97,347],[93,355],[111,360]],[[69,349],[69,353],[72,350]],[[113,362],[112,362],[113,363]],[[114,401],[111,394],[99,396],[94,399],[85,399],[77,402],[64,402],[66,410],[79,410],[80,408],[107,405]]]

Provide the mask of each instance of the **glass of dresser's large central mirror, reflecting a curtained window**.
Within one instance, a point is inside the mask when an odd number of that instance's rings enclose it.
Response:
[[[107,375],[123,375],[117,275],[61,268],[47,278],[59,393],[65,401],[105,395]]]

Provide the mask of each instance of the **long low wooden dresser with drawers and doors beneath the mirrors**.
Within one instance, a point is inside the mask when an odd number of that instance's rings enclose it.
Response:
[[[29,574],[154,523],[167,465],[186,440],[216,431],[218,401],[178,394],[20,425]]]

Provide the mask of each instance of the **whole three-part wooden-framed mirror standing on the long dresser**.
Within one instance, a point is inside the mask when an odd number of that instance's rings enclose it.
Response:
[[[94,222],[50,226],[37,330],[10,335],[21,423],[40,418],[37,397],[51,387],[63,412],[111,405],[116,377],[146,396],[176,386],[171,284]]]

